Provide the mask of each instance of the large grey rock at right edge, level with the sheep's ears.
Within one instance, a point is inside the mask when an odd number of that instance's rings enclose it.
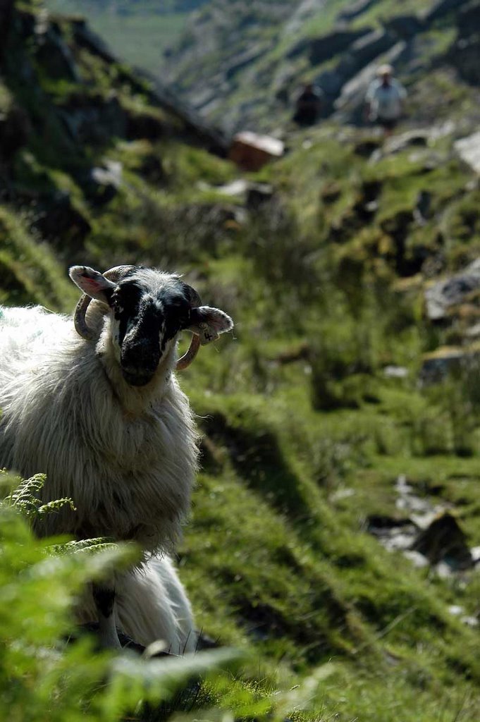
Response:
[[[427,288],[425,303],[428,318],[430,321],[440,321],[447,316],[449,308],[463,303],[466,296],[478,288],[480,288],[480,258],[461,273]]]

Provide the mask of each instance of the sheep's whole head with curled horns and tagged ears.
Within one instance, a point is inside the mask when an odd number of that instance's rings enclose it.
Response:
[[[90,266],[71,266],[71,280],[84,296],[74,315],[75,329],[87,342],[95,340],[86,314],[92,298],[110,307],[111,341],[123,378],[131,386],[145,386],[175,344],[179,331],[188,329],[188,352],[178,361],[186,368],[198,351],[233,328],[219,308],[201,305],[198,293],[176,274],[138,266],[115,266],[101,274]],[[121,279],[121,280],[119,280]],[[86,302],[86,303],[85,303]]]

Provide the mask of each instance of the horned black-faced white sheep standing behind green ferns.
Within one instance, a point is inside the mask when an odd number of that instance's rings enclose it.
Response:
[[[186,593],[168,554],[191,504],[198,438],[175,369],[232,329],[176,274],[72,266],[82,297],[71,318],[40,307],[0,308],[0,468],[46,474],[42,500],[71,497],[34,522],[41,535],[135,541],[141,562],[92,585],[82,621],[116,627],[173,653],[196,644]],[[192,332],[178,359],[180,331]]]

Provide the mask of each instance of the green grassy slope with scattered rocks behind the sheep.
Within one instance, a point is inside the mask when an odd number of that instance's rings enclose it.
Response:
[[[405,477],[480,546],[478,367],[419,381],[424,355],[474,344],[478,318],[475,294],[442,323],[424,313],[426,288],[480,250],[478,178],[455,134],[395,147],[331,121],[292,132],[289,154],[246,178],[271,184],[260,203],[225,196],[239,171],[82,27],[40,32],[38,8],[17,7],[0,92],[0,300],[68,310],[67,266],[134,262],[185,272],[235,318],[181,376],[203,441],[180,575],[198,627],[245,652],[196,716],[476,722],[478,568],[455,567],[448,544],[419,567],[371,533],[409,521]],[[445,73],[430,97],[448,118]],[[471,108],[470,92],[457,103]]]

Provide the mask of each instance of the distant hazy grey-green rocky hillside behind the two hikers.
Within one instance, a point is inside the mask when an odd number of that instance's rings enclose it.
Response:
[[[341,111],[358,121],[375,68],[388,61],[414,96],[410,110],[417,122],[429,122],[429,104],[422,113],[422,104],[415,103],[419,77],[433,74],[432,83],[442,84],[448,102],[457,97],[458,84],[463,86],[456,71],[463,69],[464,56],[474,66],[478,37],[476,51],[464,46],[452,52],[458,14],[466,4],[422,0],[399,8],[390,0],[318,0],[276,3],[272,13],[268,4],[253,10],[242,2],[212,1],[192,15],[170,53],[167,77],[228,131],[278,131],[291,118],[294,97],[305,82],[323,90],[324,116]],[[478,32],[475,22],[470,32]],[[468,95],[468,88],[464,92]]]

